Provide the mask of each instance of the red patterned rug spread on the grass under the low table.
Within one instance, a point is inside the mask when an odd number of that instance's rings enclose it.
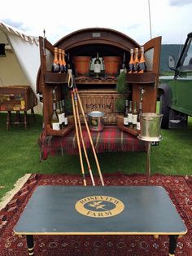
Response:
[[[142,174],[104,174],[106,186],[146,185]],[[89,178],[86,179],[91,185]],[[98,183],[98,179],[95,179]],[[77,175],[33,174],[8,205],[0,211],[0,255],[27,254],[25,237],[15,236],[13,227],[35,188],[39,185],[83,185]],[[151,185],[163,186],[176,205],[188,232],[178,238],[176,255],[192,255],[192,176],[151,176]],[[168,255],[168,236],[34,236],[35,255]]]

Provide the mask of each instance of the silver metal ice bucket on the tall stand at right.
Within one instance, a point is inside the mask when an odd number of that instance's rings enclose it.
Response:
[[[142,113],[140,117],[141,133],[138,136],[138,139],[146,141],[161,140],[160,126],[163,116],[163,114],[157,113]]]

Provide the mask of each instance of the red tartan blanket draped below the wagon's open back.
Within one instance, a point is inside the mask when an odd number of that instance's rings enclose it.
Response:
[[[105,126],[100,132],[90,131],[96,152],[117,152],[117,151],[146,151],[146,143],[137,139],[136,136],[130,135],[124,130],[120,130],[117,126]],[[82,134],[85,147],[91,150],[91,143],[85,127],[82,127]],[[41,149],[41,159],[57,152],[67,152],[68,154],[78,153],[76,142],[76,132],[72,130],[63,137],[46,136],[42,131],[39,138],[39,146]]]

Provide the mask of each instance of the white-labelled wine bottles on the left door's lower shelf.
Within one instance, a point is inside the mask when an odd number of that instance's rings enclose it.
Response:
[[[53,103],[51,126],[53,130],[62,130],[65,126],[68,126],[68,117],[66,117],[64,110],[64,99]]]

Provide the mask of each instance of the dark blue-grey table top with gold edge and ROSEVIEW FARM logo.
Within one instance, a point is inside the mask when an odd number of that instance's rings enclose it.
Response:
[[[181,235],[187,229],[163,187],[39,186],[14,231],[23,235]]]

